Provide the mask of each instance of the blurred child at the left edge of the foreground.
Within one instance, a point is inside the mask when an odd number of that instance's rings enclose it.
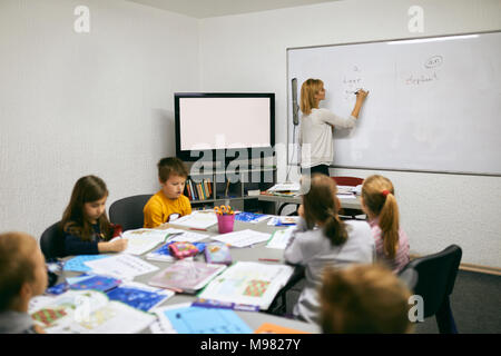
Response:
[[[0,334],[43,333],[28,315],[32,297],[47,288],[46,259],[24,233],[0,234]]]

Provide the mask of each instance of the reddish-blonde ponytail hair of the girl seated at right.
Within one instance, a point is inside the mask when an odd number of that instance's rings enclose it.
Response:
[[[399,206],[395,191],[390,179],[383,176],[371,176],[364,179],[362,198],[371,212],[379,217],[379,226],[383,233],[384,253],[395,258],[399,249]]]

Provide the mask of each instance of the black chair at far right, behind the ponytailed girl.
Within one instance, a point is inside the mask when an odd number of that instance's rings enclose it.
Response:
[[[435,316],[441,334],[458,334],[449,296],[454,289],[462,249],[451,245],[444,250],[411,260],[399,274],[407,269],[418,273],[414,294],[423,298],[424,317]]]

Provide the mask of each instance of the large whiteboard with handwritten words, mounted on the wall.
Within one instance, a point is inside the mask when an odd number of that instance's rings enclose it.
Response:
[[[334,129],[335,167],[501,175],[501,32],[287,49],[287,76],[298,99],[322,79],[321,108],[345,117],[370,91],[356,127]],[[292,112],[289,99],[295,165]]]

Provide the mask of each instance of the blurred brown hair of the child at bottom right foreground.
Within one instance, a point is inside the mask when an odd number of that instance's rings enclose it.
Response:
[[[382,265],[324,270],[320,290],[324,333],[410,333],[407,287]]]

